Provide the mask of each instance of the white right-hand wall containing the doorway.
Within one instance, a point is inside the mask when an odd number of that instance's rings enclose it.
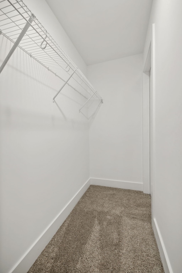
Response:
[[[155,23],[154,218],[170,273],[182,268],[182,2],[154,0],[144,60]]]

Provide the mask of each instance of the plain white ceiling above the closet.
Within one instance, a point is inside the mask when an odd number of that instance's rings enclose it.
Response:
[[[152,0],[46,2],[87,65],[143,52]]]

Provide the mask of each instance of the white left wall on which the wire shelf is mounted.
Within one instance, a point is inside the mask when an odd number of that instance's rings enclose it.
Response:
[[[25,1],[86,74],[86,65],[44,0]],[[0,64],[12,47],[0,36]],[[10,272],[89,179],[85,99],[19,48],[0,75],[0,272]]]

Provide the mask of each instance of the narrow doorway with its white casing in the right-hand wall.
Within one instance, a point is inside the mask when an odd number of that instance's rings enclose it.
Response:
[[[143,192],[151,195],[152,224],[155,194],[154,24],[143,70]]]

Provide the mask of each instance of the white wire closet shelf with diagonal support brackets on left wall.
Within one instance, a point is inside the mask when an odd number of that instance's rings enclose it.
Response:
[[[86,99],[79,111],[89,105],[87,102],[90,100],[103,102],[92,84],[22,0],[0,0],[0,34],[14,43],[0,67],[0,73],[18,46],[64,81],[53,102],[66,84]]]

